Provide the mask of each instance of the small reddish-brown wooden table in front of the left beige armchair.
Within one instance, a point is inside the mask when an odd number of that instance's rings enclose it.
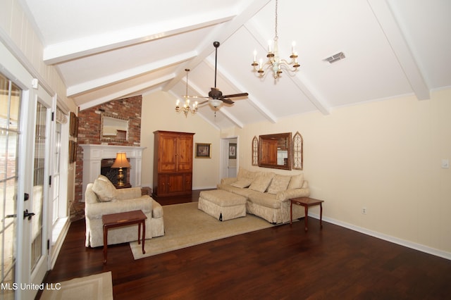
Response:
[[[111,213],[102,215],[101,221],[104,225],[104,263],[106,263],[108,249],[108,230],[114,227],[138,225],[138,244],[141,243],[141,225],[142,225],[142,254],[144,251],[144,239],[146,237],[146,215],[142,211],[126,211],[125,213]]]

